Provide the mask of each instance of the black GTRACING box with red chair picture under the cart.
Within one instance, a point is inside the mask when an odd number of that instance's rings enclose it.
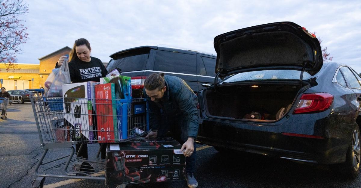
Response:
[[[131,142],[108,144],[106,184],[183,180],[186,157],[181,148],[182,145],[173,138],[137,138]]]

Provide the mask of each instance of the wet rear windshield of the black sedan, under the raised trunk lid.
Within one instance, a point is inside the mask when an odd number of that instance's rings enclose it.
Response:
[[[248,82],[248,81],[282,81],[282,80],[299,80],[301,71],[299,70],[258,70],[244,72],[232,75],[225,79],[224,83],[231,82]],[[303,72],[303,79],[309,79],[311,75]]]

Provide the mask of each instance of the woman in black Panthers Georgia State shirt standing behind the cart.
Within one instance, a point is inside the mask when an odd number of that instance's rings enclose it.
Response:
[[[100,59],[90,56],[91,47],[88,40],[85,38],[79,38],[75,40],[73,49],[69,53],[69,73],[70,80],[72,83],[77,82],[99,82],[100,78],[105,77],[108,71],[105,69],[104,64]],[[64,60],[68,58],[63,55],[59,58],[55,68],[62,65]],[[76,144],[76,151],[79,152],[78,156],[88,159],[88,147],[84,144],[82,150],[79,151],[80,144]],[[101,152],[101,158],[105,159],[105,147]],[[83,165],[86,168],[90,164],[86,163]]]

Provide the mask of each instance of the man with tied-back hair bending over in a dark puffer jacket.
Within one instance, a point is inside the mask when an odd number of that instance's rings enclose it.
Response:
[[[164,73],[151,74],[145,79],[144,95],[149,101],[152,129],[145,138],[164,137],[169,130],[180,128],[181,141],[183,142],[181,150],[187,157],[187,184],[190,188],[196,188],[198,182],[193,173],[196,162],[194,140],[197,137],[199,127],[197,96],[181,78],[164,76]],[[177,136],[175,138],[177,139]]]

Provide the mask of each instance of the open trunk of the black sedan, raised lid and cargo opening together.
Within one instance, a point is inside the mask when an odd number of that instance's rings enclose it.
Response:
[[[313,76],[323,64],[316,36],[292,22],[263,24],[223,33],[214,38],[214,49],[217,52],[215,84],[205,89],[200,98],[204,100],[206,114],[215,118],[280,119],[291,109],[302,86],[306,86],[301,75],[306,72]],[[216,82],[218,77],[232,74],[277,69],[300,71],[299,83],[252,83],[253,78],[248,80],[251,84]],[[268,79],[276,81],[283,76],[276,74],[273,77],[275,79]],[[286,76],[284,79],[290,78]]]

